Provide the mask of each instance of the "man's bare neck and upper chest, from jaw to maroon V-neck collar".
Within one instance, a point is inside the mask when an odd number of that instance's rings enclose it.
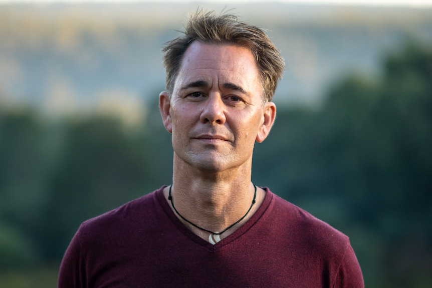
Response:
[[[224,231],[240,219],[239,223],[220,235],[221,239],[233,233],[255,213],[264,200],[265,192],[258,188],[256,204],[251,205],[255,194],[251,166],[234,171],[211,172],[194,169],[184,165],[184,162],[181,163],[183,165],[176,164],[179,163],[174,157],[173,185],[164,190],[165,198],[180,221],[205,240],[208,240],[208,231]],[[168,199],[170,189],[172,199]]]

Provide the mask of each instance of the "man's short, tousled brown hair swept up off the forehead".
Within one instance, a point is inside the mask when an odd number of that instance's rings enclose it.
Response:
[[[265,101],[271,101],[285,62],[273,42],[256,26],[241,22],[232,14],[216,15],[197,10],[189,17],[183,35],[167,42],[162,48],[163,66],[166,70],[166,89],[171,95],[175,78],[186,49],[193,41],[203,43],[228,43],[249,49],[257,60],[261,74]]]

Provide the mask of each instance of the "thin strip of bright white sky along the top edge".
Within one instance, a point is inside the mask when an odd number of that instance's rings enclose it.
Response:
[[[82,3],[82,2],[149,2],[151,0],[0,0],[0,3]],[[156,1],[156,0],[153,0]],[[167,2],[266,2],[257,0],[164,0]],[[335,5],[367,5],[367,6],[407,6],[432,7],[432,0],[271,0],[272,2],[301,3],[301,4],[335,4]]]

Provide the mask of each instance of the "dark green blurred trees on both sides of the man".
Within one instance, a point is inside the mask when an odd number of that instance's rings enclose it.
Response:
[[[431,79],[432,48],[408,43],[320,107],[278,107],[256,147],[254,182],[350,236],[367,287],[432,286]],[[171,182],[170,135],[149,107],[133,128],[0,109],[0,286],[54,275],[34,267],[57,268],[80,222]]]

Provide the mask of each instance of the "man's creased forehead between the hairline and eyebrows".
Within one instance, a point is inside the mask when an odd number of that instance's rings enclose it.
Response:
[[[261,89],[259,70],[251,51],[232,44],[193,42],[184,53],[176,85],[202,80],[218,85],[230,82]],[[182,83],[182,84],[180,84]]]

